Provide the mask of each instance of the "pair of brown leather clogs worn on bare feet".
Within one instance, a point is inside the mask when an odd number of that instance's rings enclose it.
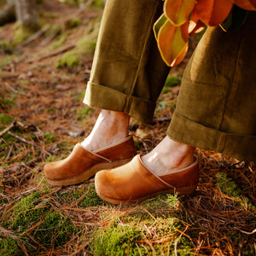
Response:
[[[44,166],[49,184],[58,186],[82,183],[96,175],[96,193],[113,204],[143,201],[162,193],[191,195],[199,179],[198,161],[173,170],[166,176],[156,176],[143,165],[132,136],[94,152],[79,143],[64,160]]]

